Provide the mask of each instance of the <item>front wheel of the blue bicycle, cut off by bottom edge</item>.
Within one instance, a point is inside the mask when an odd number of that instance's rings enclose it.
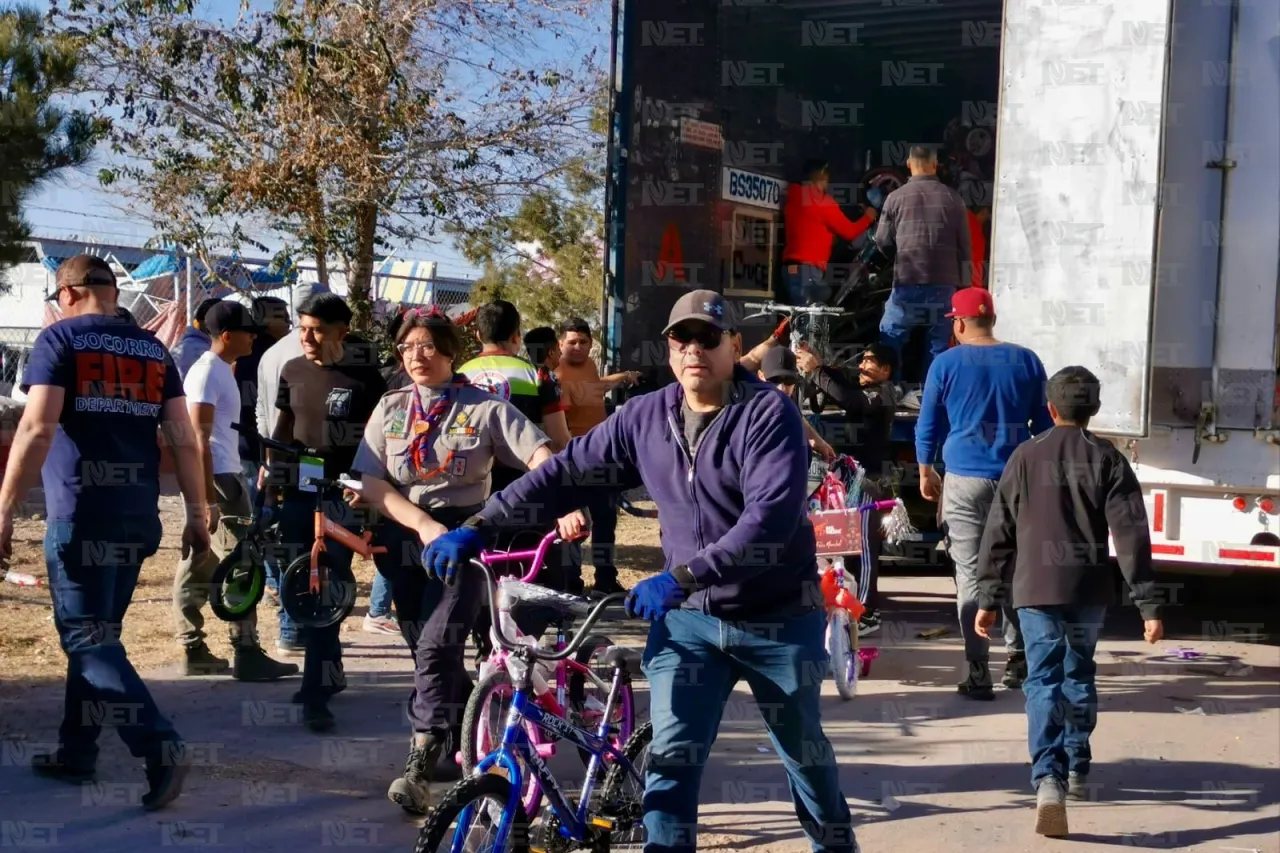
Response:
[[[413,853],[451,850],[456,840],[463,850],[529,853],[529,816],[511,794],[511,781],[497,774],[463,779],[431,809]],[[507,830],[500,845],[499,829]]]

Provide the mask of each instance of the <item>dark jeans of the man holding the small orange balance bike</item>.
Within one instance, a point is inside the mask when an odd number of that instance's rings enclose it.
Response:
[[[333,492],[324,500],[325,515],[355,532],[358,519],[340,492]],[[280,542],[296,560],[298,555],[311,551],[315,542],[315,496],[303,492],[291,492],[280,507]],[[325,540],[325,553],[330,576],[342,580],[352,580],[351,560],[355,555],[346,547]],[[283,576],[282,576],[283,584]],[[280,590],[280,610],[284,610],[284,590]],[[284,640],[284,613],[282,612],[280,639]],[[289,629],[293,631],[292,642],[301,642],[306,648],[302,660],[302,701],[305,703],[324,704],[329,701],[333,688],[342,681],[342,642],[339,631],[342,622],[329,628],[305,628],[289,620]]]

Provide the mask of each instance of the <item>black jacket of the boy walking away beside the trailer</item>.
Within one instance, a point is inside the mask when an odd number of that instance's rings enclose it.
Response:
[[[987,516],[978,606],[996,610],[1010,587],[1014,607],[1115,603],[1108,529],[1134,605],[1160,619],[1147,507],[1129,461],[1078,426],[1023,442]]]

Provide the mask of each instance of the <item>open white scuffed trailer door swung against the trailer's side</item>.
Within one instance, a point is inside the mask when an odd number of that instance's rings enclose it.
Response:
[[[1170,0],[1006,0],[997,334],[1102,380],[1093,429],[1148,429]]]

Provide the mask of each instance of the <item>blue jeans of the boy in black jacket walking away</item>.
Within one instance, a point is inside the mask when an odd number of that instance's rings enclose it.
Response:
[[[1032,788],[1068,772],[1088,774],[1089,735],[1098,722],[1093,652],[1106,607],[1019,607],[1027,643],[1027,745]]]

